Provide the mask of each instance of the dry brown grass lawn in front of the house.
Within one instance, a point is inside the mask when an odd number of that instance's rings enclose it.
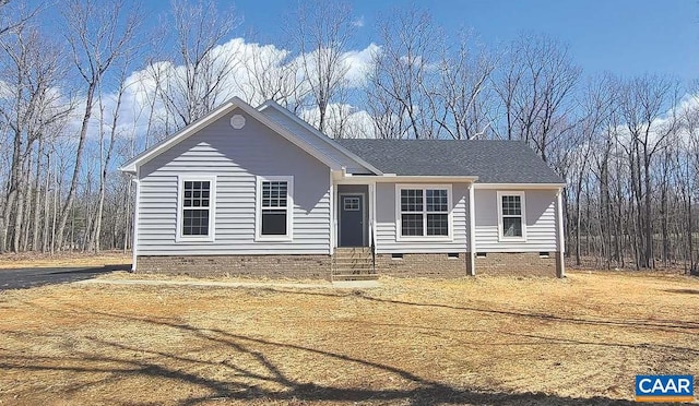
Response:
[[[618,404],[699,374],[699,279],[0,294],[1,404]]]

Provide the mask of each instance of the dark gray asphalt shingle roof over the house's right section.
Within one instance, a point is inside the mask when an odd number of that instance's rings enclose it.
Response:
[[[384,174],[477,176],[482,183],[564,183],[525,143],[499,140],[335,140]]]

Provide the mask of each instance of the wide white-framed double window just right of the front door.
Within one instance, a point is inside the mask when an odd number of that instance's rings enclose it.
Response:
[[[449,237],[449,198],[447,187],[398,188],[400,237]]]

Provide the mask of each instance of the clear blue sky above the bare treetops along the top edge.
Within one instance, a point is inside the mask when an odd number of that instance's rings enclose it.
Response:
[[[407,1],[351,1],[363,19],[357,49],[377,41],[379,19],[405,7]],[[296,8],[288,0],[221,1],[235,7],[244,22],[235,33],[250,31],[281,45],[284,20]],[[609,71],[620,75],[644,72],[673,74],[689,81],[699,77],[699,1],[697,0],[443,0],[415,1],[428,10],[448,33],[473,28],[483,43],[509,41],[522,32],[544,33],[569,44],[585,74]],[[146,2],[151,12],[164,12],[169,1]],[[155,23],[156,19],[149,19]]]

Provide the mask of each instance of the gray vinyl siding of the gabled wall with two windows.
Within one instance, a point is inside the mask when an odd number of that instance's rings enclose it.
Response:
[[[194,175],[216,176],[213,242],[176,242],[177,179]],[[254,241],[256,176],[294,177],[293,241]],[[139,255],[330,253],[330,168],[239,109],[144,164],[140,198]]]

